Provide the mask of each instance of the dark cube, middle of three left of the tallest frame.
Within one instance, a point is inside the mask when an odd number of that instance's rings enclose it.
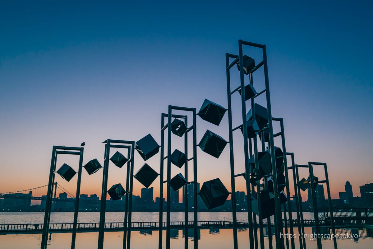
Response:
[[[220,154],[223,152],[227,141],[219,135],[207,130],[200,141],[200,148],[207,154],[219,158]]]

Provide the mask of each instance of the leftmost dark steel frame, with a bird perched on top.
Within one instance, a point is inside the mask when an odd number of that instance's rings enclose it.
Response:
[[[79,155],[78,181],[76,183],[75,209],[74,209],[73,230],[72,230],[72,239],[71,239],[71,248],[72,249],[75,248],[76,226],[78,222],[78,212],[79,212],[80,185],[81,185],[81,179],[82,179],[83,152],[84,152],[83,147],[66,147],[66,146],[55,146],[55,145],[53,146],[52,158],[51,158],[51,163],[50,163],[50,171],[49,171],[46,209],[44,213],[43,234],[41,236],[41,246],[40,246],[41,249],[47,248],[47,236],[48,236],[50,212],[51,212],[51,206],[52,206],[53,184],[54,184],[54,176],[55,176],[55,171],[56,171],[58,154]]]

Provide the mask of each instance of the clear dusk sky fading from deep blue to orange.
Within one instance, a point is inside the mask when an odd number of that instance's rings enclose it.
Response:
[[[53,145],[85,141],[84,164],[103,164],[107,138],[151,133],[160,143],[168,105],[198,111],[207,98],[226,107],[225,53],[238,54],[242,39],[267,45],[272,114],[284,118],[296,163],[327,162],[332,197],[347,180],[360,196],[358,187],[373,178],[373,5],[327,2],[1,2],[0,192],[47,184]],[[259,50],[244,53],[262,60]],[[257,91],[262,72],[254,75]],[[231,75],[234,88],[238,71]],[[239,95],[232,101],[236,126]],[[228,140],[228,115],[219,127],[200,118],[197,125],[197,142],[206,129]],[[182,140],[172,139],[173,149],[182,149]],[[233,140],[241,173],[242,134]],[[197,152],[198,181],[220,177],[230,190],[228,146],[219,159]],[[57,167],[64,162],[77,169],[77,156],[60,155]],[[143,163],[136,154],[135,172]],[[159,172],[159,154],[147,163]],[[102,172],[84,171],[81,193],[100,194]],[[178,172],[184,169],[172,165],[172,175]],[[56,181],[75,193],[76,177]],[[109,187],[119,182],[124,186],[125,168],[111,164]],[[156,193],[159,178],[152,186]],[[134,194],[140,189],[135,180]],[[236,189],[245,190],[243,178]]]

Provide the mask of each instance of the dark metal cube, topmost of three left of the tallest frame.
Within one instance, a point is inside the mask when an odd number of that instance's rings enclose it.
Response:
[[[223,106],[205,99],[200,111],[198,112],[198,116],[200,116],[204,121],[210,122],[214,125],[219,125],[226,111],[227,109]]]

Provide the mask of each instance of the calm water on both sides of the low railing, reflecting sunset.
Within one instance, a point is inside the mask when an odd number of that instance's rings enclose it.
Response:
[[[213,220],[232,220],[230,212],[199,212],[198,220],[213,221]],[[79,222],[98,222],[100,214],[98,212],[81,212],[79,213]],[[121,221],[124,216],[123,212],[108,212],[106,214],[106,222]],[[16,212],[0,213],[0,224],[26,224],[26,223],[43,223],[44,213],[40,212]],[[51,215],[51,223],[72,222],[72,212],[56,212]],[[157,212],[134,212],[133,221],[157,221]],[[164,217],[165,220],[166,217]],[[304,218],[312,219],[311,213],[305,213]],[[189,219],[192,220],[192,213],[189,214]],[[237,213],[238,221],[247,221],[247,213]],[[183,212],[172,212],[172,221],[184,220]],[[268,248],[268,233],[265,229],[264,243]],[[305,228],[305,234],[308,237],[305,239],[307,249],[317,248],[316,239],[311,238],[313,230],[310,227]],[[184,234],[183,230],[171,230],[171,248],[184,248]],[[294,233],[298,234],[297,229]],[[323,234],[329,234],[329,229],[323,228]],[[372,234],[373,230],[360,228],[339,228],[336,231],[340,236],[344,235],[348,239],[338,239],[338,249],[370,249],[373,248]],[[158,231],[143,230],[132,231],[131,233],[131,248],[146,249],[158,248]],[[163,241],[165,242],[165,234],[163,232]],[[189,236],[193,234],[189,231]],[[259,235],[259,234],[258,234]],[[233,231],[232,229],[206,229],[198,230],[198,248],[201,249],[226,249],[233,248]],[[352,237],[352,238],[351,238]],[[274,237],[273,242],[274,242]],[[77,249],[91,249],[97,248],[98,233],[77,233],[76,248]],[[193,248],[194,238],[189,237],[189,248]],[[71,233],[53,233],[48,237],[48,249],[65,249],[70,247]],[[0,235],[1,249],[37,249],[40,248],[41,234],[7,234]],[[106,232],[104,236],[104,247],[108,249],[122,248],[123,232]],[[238,246],[239,248],[248,248],[248,230],[241,229],[238,231]],[[164,243],[163,243],[164,244]],[[333,240],[322,240],[323,249],[335,248]],[[164,244],[165,246],[165,244]],[[275,248],[275,246],[274,246]],[[299,239],[295,239],[295,248],[299,248]]]

